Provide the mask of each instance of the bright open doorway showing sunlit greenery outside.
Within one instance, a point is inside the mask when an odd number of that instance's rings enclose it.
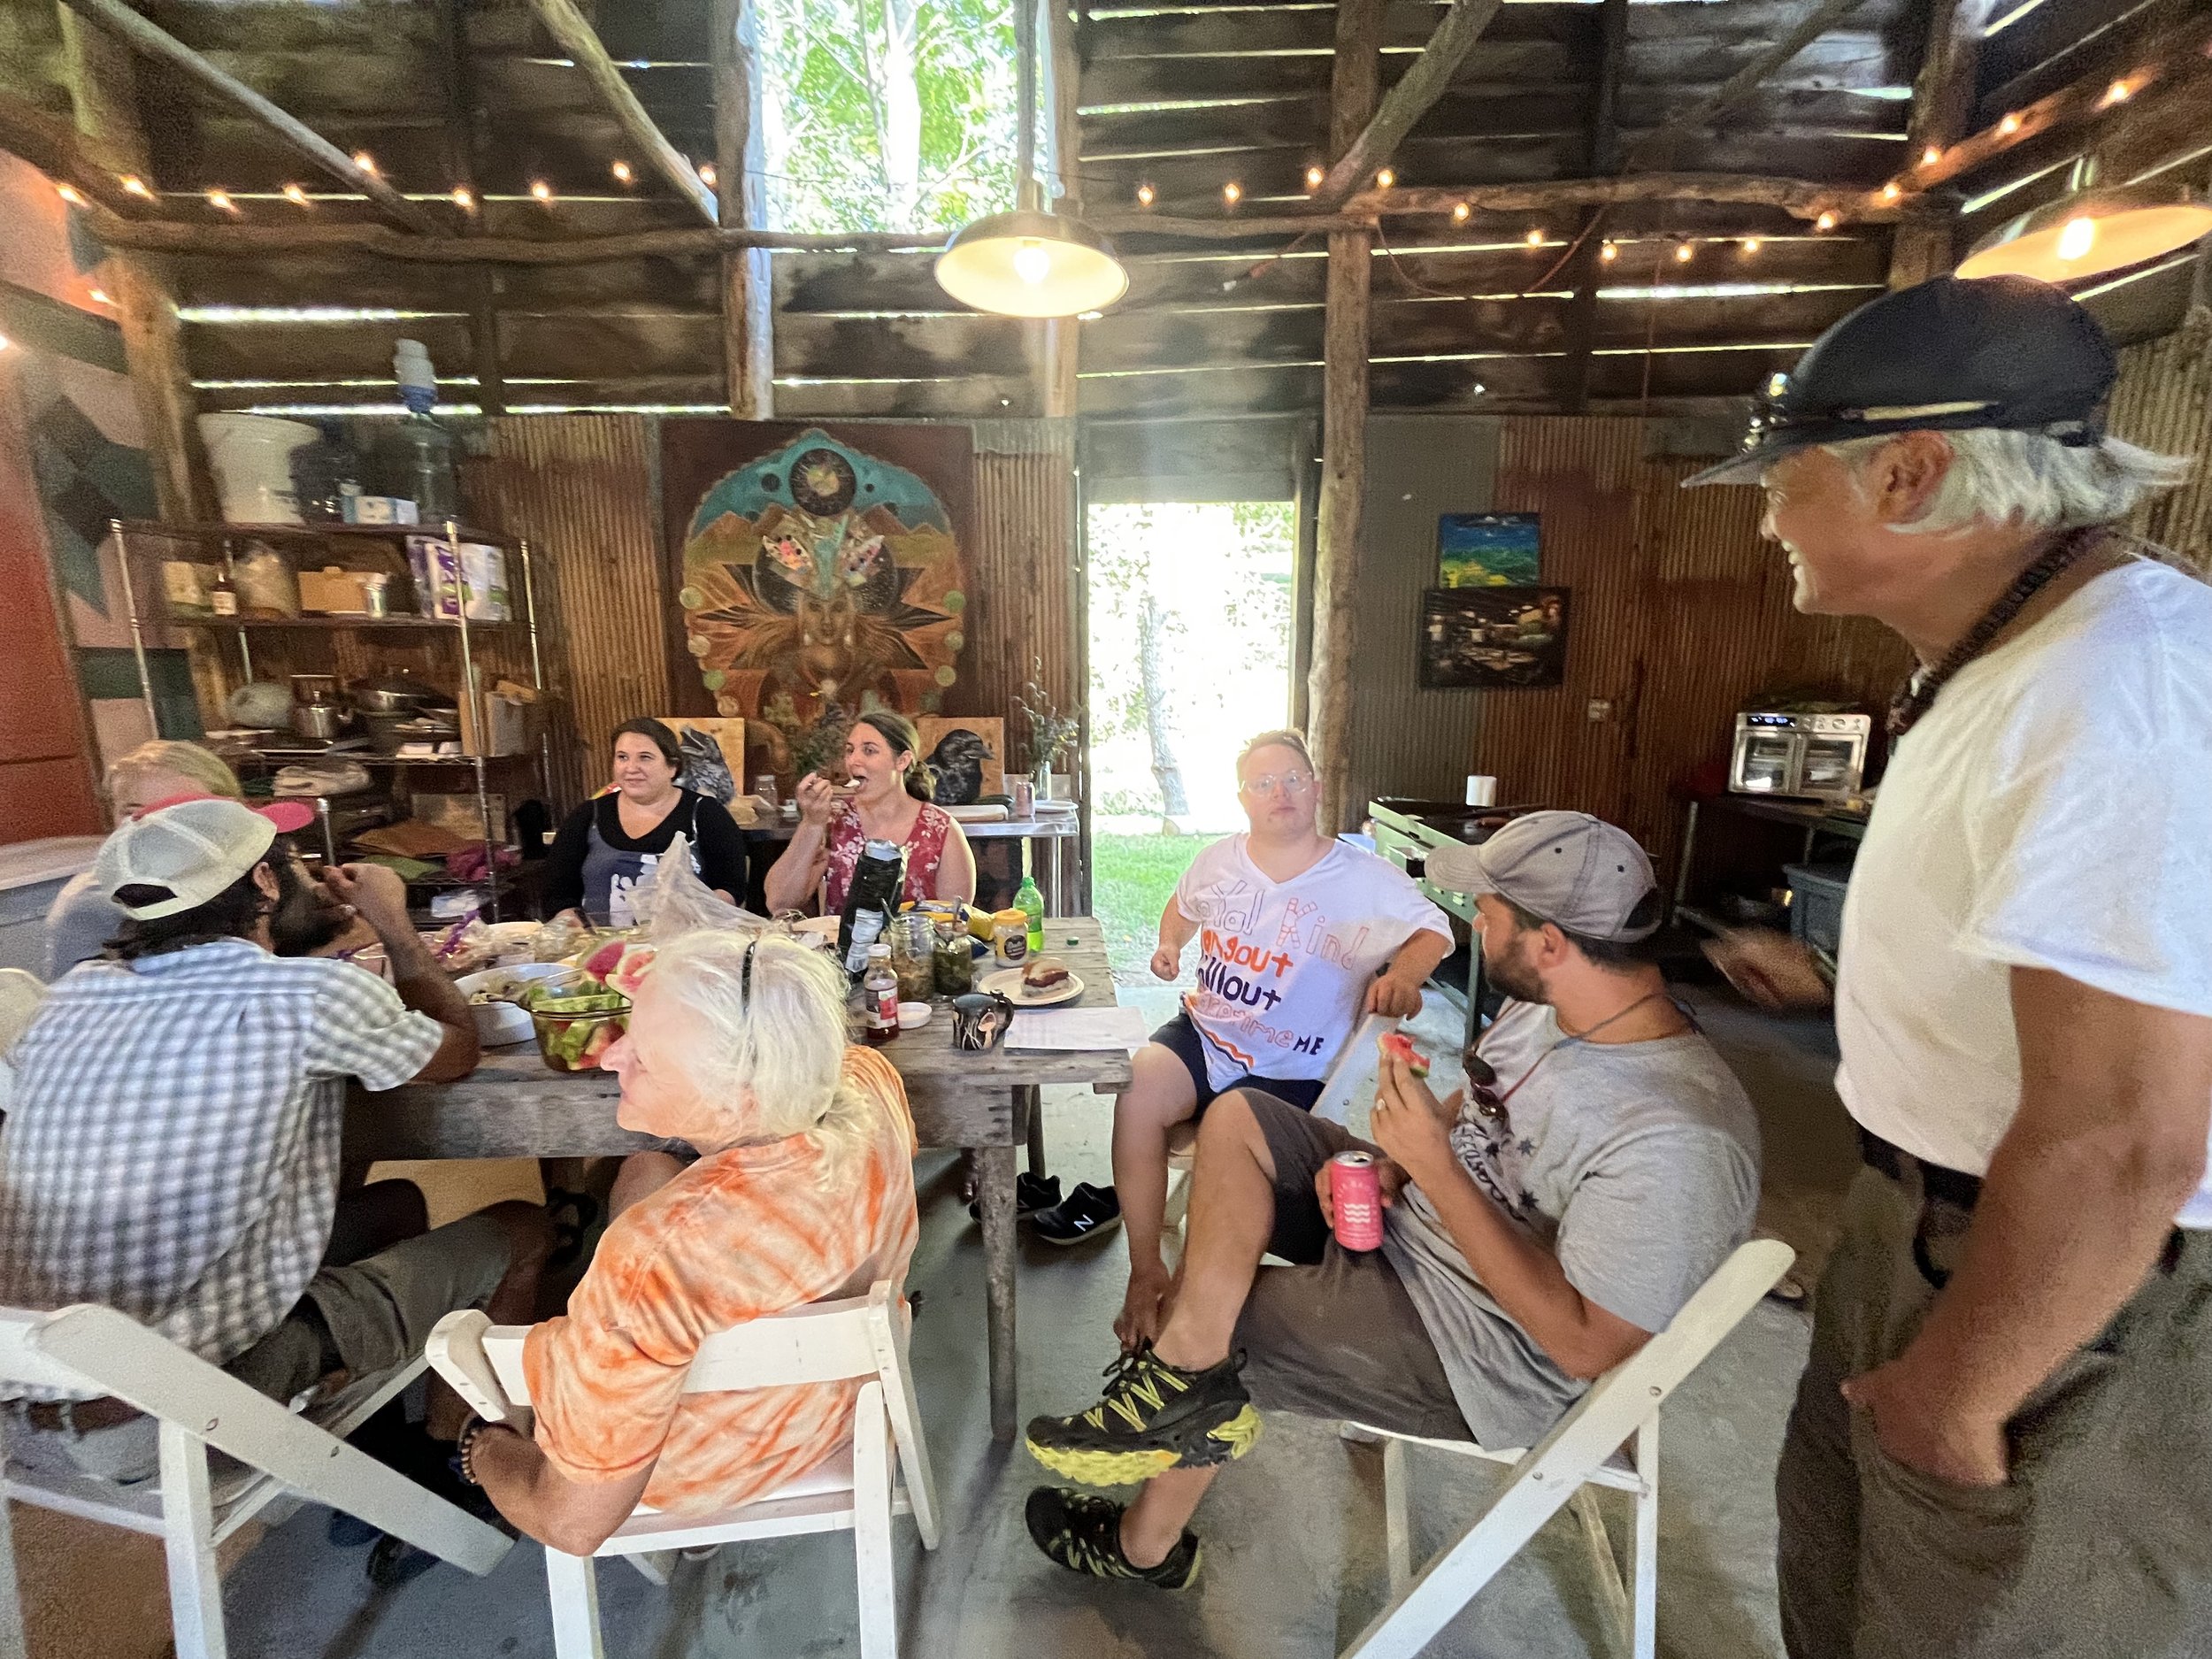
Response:
[[[1237,750],[1290,723],[1296,507],[1093,502],[1086,533],[1093,909],[1115,980],[1157,984],[1175,883],[1245,823]]]

